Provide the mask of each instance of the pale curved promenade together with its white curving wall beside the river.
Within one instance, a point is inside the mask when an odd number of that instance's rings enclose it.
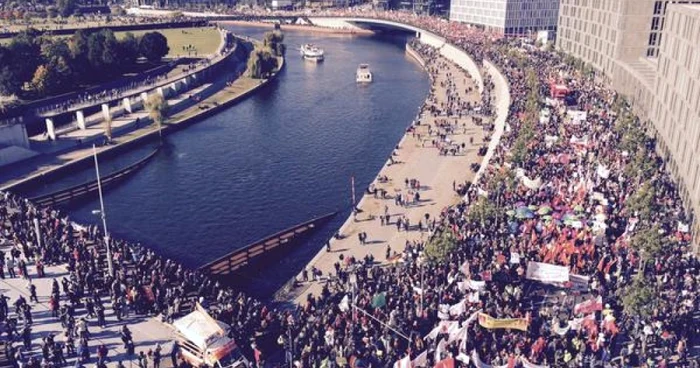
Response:
[[[481,158],[477,151],[487,136],[481,127],[474,123],[472,117],[453,113],[436,115],[429,112],[431,107],[448,103],[448,96],[454,98],[454,93],[464,101],[480,103],[483,78],[479,69],[469,55],[446,44],[444,39],[413,26],[408,27],[417,31],[420,36],[418,40],[432,50],[431,59],[426,60],[407,45],[407,53],[429,73],[431,91],[434,93],[428,96],[416,121],[407,129],[394,154],[371,184],[374,189],[385,190],[387,196],[375,196],[364,191],[365,188],[360,188],[358,192],[363,194],[357,205],[359,213],[351,214],[338,230],[341,238],[329,240],[331,251],[328,252],[325,248],[319,250],[304,271],[277,293],[277,300],[303,304],[308,294],[320,295],[324,285],[333,279],[331,276],[336,273],[336,263],[342,263],[341,257],[353,257],[356,260],[372,257],[377,264],[382,265],[392,263],[395,259],[393,255],[404,252],[406,245],[424,243],[433,233],[432,225],[439,220],[442,212],[459,202],[455,191],[457,186],[478,180],[499,144],[510,106],[505,77],[490,65],[486,68],[489,75],[495,79],[493,104],[497,106],[497,119],[495,134],[491,135],[488,142],[488,153]],[[450,47],[446,50],[447,46]],[[445,86],[449,81],[455,81],[456,85],[448,91]],[[473,91],[465,94],[468,89]],[[439,126],[445,122],[448,122],[450,127],[442,130]],[[442,134],[452,144],[464,144],[466,149],[457,156],[443,156],[438,152],[439,149],[432,145],[433,142],[440,141]],[[468,171],[473,163],[480,165],[476,175]],[[417,180],[419,188],[407,186],[405,180]],[[420,196],[418,201],[413,200],[416,193]],[[397,196],[408,198],[411,203],[397,204]],[[386,214],[390,220],[385,224],[380,217]],[[408,231],[403,229],[404,225],[397,224],[397,220],[403,224],[408,220]],[[367,235],[368,239],[364,241],[366,244],[360,244],[359,234]],[[392,256],[387,257],[387,252]],[[320,271],[322,276],[313,281],[311,275],[316,270]]]

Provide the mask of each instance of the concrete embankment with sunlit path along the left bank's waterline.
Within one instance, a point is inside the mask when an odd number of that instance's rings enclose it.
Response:
[[[151,124],[123,136],[116,137],[114,139],[116,144],[99,147],[97,149],[97,155],[100,158],[113,157],[118,153],[130,149],[136,145],[150,141],[157,141],[161,134],[166,136],[193,123],[215,115],[244,100],[260,88],[268,85],[277,78],[282,70],[284,70],[284,66],[284,58],[280,58],[278,70],[275,71],[269,78],[255,80],[248,77],[239,77],[230,86],[225,86],[223,81],[225,81],[226,78],[220,78],[219,82],[222,83],[221,90],[199,101],[194,106],[169,117],[169,121],[163,125],[160,132],[153,124]],[[78,150],[78,152],[70,156],[70,160],[65,160],[64,163],[58,166],[42,170],[41,172],[25,178],[7,182],[0,187],[0,190],[21,192],[22,190],[31,188],[38,183],[49,181],[55,177],[64,175],[67,172],[89,167],[92,165],[92,160],[92,148],[81,148]]]

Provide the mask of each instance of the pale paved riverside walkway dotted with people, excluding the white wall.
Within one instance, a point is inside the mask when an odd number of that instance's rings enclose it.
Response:
[[[430,104],[439,105],[447,100],[446,89],[442,84],[448,79],[450,73],[450,79],[456,82],[456,90],[461,99],[472,103],[479,102],[481,97],[474,81],[444,57],[439,57],[438,60],[444,62],[447,67],[441,68],[438,77],[432,82],[432,87],[436,91],[436,100]],[[472,92],[467,94],[466,89],[469,87],[472,88]],[[439,154],[437,148],[431,146],[431,141],[438,139],[436,121],[445,119],[450,122],[457,121],[458,128],[455,134],[449,134],[448,139],[456,144],[466,144],[466,150],[462,154],[443,156]],[[342,239],[334,239],[331,242],[331,252],[322,249],[307,266],[307,270],[312,267],[317,268],[324,277],[321,281],[304,282],[301,287],[279,294],[279,300],[300,303],[306,300],[306,295],[309,293],[319,295],[326,282],[326,276],[335,275],[334,263],[340,262],[341,254],[344,257],[354,256],[357,260],[371,254],[375,262],[386,264],[387,246],[391,247],[392,252],[400,253],[405,248],[406,242],[427,240],[429,233],[426,230],[425,215],[429,214],[431,220],[438,218],[442,210],[458,203],[460,197],[453,190],[453,183],[459,185],[474,177],[470,165],[481,162],[478,150],[486,138],[485,132],[469,116],[462,118],[431,116],[426,112],[420,120],[421,125],[415,133],[407,133],[399,144],[399,148],[395,150],[393,159],[396,163],[391,164],[391,161],[388,161],[373,182],[376,188],[387,191],[387,199],[375,198],[373,195],[366,194],[364,188],[358,188],[360,197],[365,193],[358,205],[360,213],[356,219],[351,216],[341,227]],[[428,135],[428,126],[432,127],[432,135]],[[471,139],[473,144],[470,144]],[[380,177],[387,177],[388,181],[380,182],[378,180]],[[421,198],[416,204],[399,206],[395,204],[395,195],[410,192],[405,185],[405,179],[417,179],[420,182]],[[388,210],[391,218],[388,226],[382,226],[380,221],[380,215],[384,214],[385,209]],[[403,229],[397,231],[396,219],[399,217],[409,220],[411,227],[408,232]],[[424,229],[422,232],[416,226],[421,220]],[[366,245],[361,245],[358,240],[358,234],[361,232],[367,233]],[[311,278],[310,272],[309,278]]]

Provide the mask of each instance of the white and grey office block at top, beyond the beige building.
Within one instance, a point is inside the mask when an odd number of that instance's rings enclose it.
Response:
[[[505,34],[555,31],[559,0],[452,0],[450,20]]]

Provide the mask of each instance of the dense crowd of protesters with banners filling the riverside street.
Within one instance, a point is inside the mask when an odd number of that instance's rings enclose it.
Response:
[[[401,16],[386,17],[398,21]],[[137,281],[167,295],[177,289],[179,275],[190,275],[183,276],[185,286],[200,293],[217,318],[233,322],[239,341],[255,336],[256,347],[265,350],[266,337],[276,340],[276,351],[290,349],[299,367],[408,367],[411,361],[420,367],[436,362],[445,367],[696,365],[700,264],[690,249],[688,218],[675,185],[661,170],[653,140],[640,134],[624,102],[558,55],[523,48],[519,39],[406,18],[425,29],[438,24],[434,32],[475,60],[496,64],[510,83],[513,101],[509,130],[486,175],[438,222],[433,236],[450,248],[444,258],[418,264],[420,250],[431,253],[433,243],[406,247],[385,267],[346,257],[320,295],[287,311],[201,282],[202,276],[180,273],[150,253],[136,262],[131,280],[155,271]],[[428,59],[434,52],[416,49]],[[560,73],[579,91],[577,109],[588,120],[571,119],[572,107],[540,94]],[[545,101],[552,105],[551,118],[538,121]],[[69,260],[75,257],[66,254],[77,249],[78,260],[104,270],[104,256],[96,252],[95,260],[83,245],[89,237],[99,239],[99,232],[86,232],[83,241],[64,239],[61,234],[71,231],[52,219],[58,214],[15,202],[7,205],[24,215],[10,220],[16,225],[7,235],[19,234],[12,242],[26,244],[32,217],[41,216],[41,223],[56,225],[52,241],[42,242],[38,254]],[[51,228],[43,225],[42,231]],[[55,232],[59,229],[61,234]],[[132,253],[120,247],[120,254]],[[536,269],[528,261],[549,266]],[[74,263],[74,272],[87,278],[81,269],[92,265]],[[579,276],[570,277],[575,283],[556,286],[533,280],[562,275]],[[151,302],[139,295],[147,308],[164,309],[158,298]],[[424,308],[417,311],[421,298]],[[259,365],[275,358],[272,351],[265,353],[255,354]]]

